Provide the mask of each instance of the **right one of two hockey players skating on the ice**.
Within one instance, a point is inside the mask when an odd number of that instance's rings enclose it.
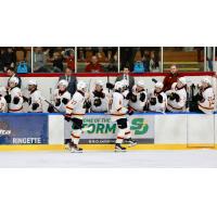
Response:
[[[124,84],[122,81],[115,82],[114,89],[115,91],[113,92],[111,115],[112,119],[117,123],[118,127],[115,151],[125,151],[126,148],[122,146],[125,138],[125,141],[130,145],[137,144],[137,142],[131,139],[131,131],[127,122],[127,114],[131,115],[132,111],[128,111],[128,108],[124,106]]]

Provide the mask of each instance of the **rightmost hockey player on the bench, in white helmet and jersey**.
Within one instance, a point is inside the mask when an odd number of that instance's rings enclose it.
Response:
[[[199,95],[199,111],[204,114],[212,114],[215,105],[215,94],[208,78],[202,79],[201,93]]]

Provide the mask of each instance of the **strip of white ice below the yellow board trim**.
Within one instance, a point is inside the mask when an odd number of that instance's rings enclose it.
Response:
[[[217,150],[126,153],[0,152],[0,167],[217,167]]]

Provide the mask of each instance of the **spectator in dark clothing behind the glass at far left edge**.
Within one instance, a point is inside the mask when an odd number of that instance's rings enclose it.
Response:
[[[1,56],[3,63],[3,69],[7,72],[8,67],[15,67],[16,64],[16,54],[12,48],[8,48]]]

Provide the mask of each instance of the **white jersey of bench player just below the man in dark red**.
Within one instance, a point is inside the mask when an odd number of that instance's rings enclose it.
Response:
[[[167,95],[176,93],[179,95],[179,101],[167,99],[167,110],[170,112],[182,112],[186,111],[187,91],[184,87],[177,88],[177,82],[174,82],[171,89],[166,92]]]

